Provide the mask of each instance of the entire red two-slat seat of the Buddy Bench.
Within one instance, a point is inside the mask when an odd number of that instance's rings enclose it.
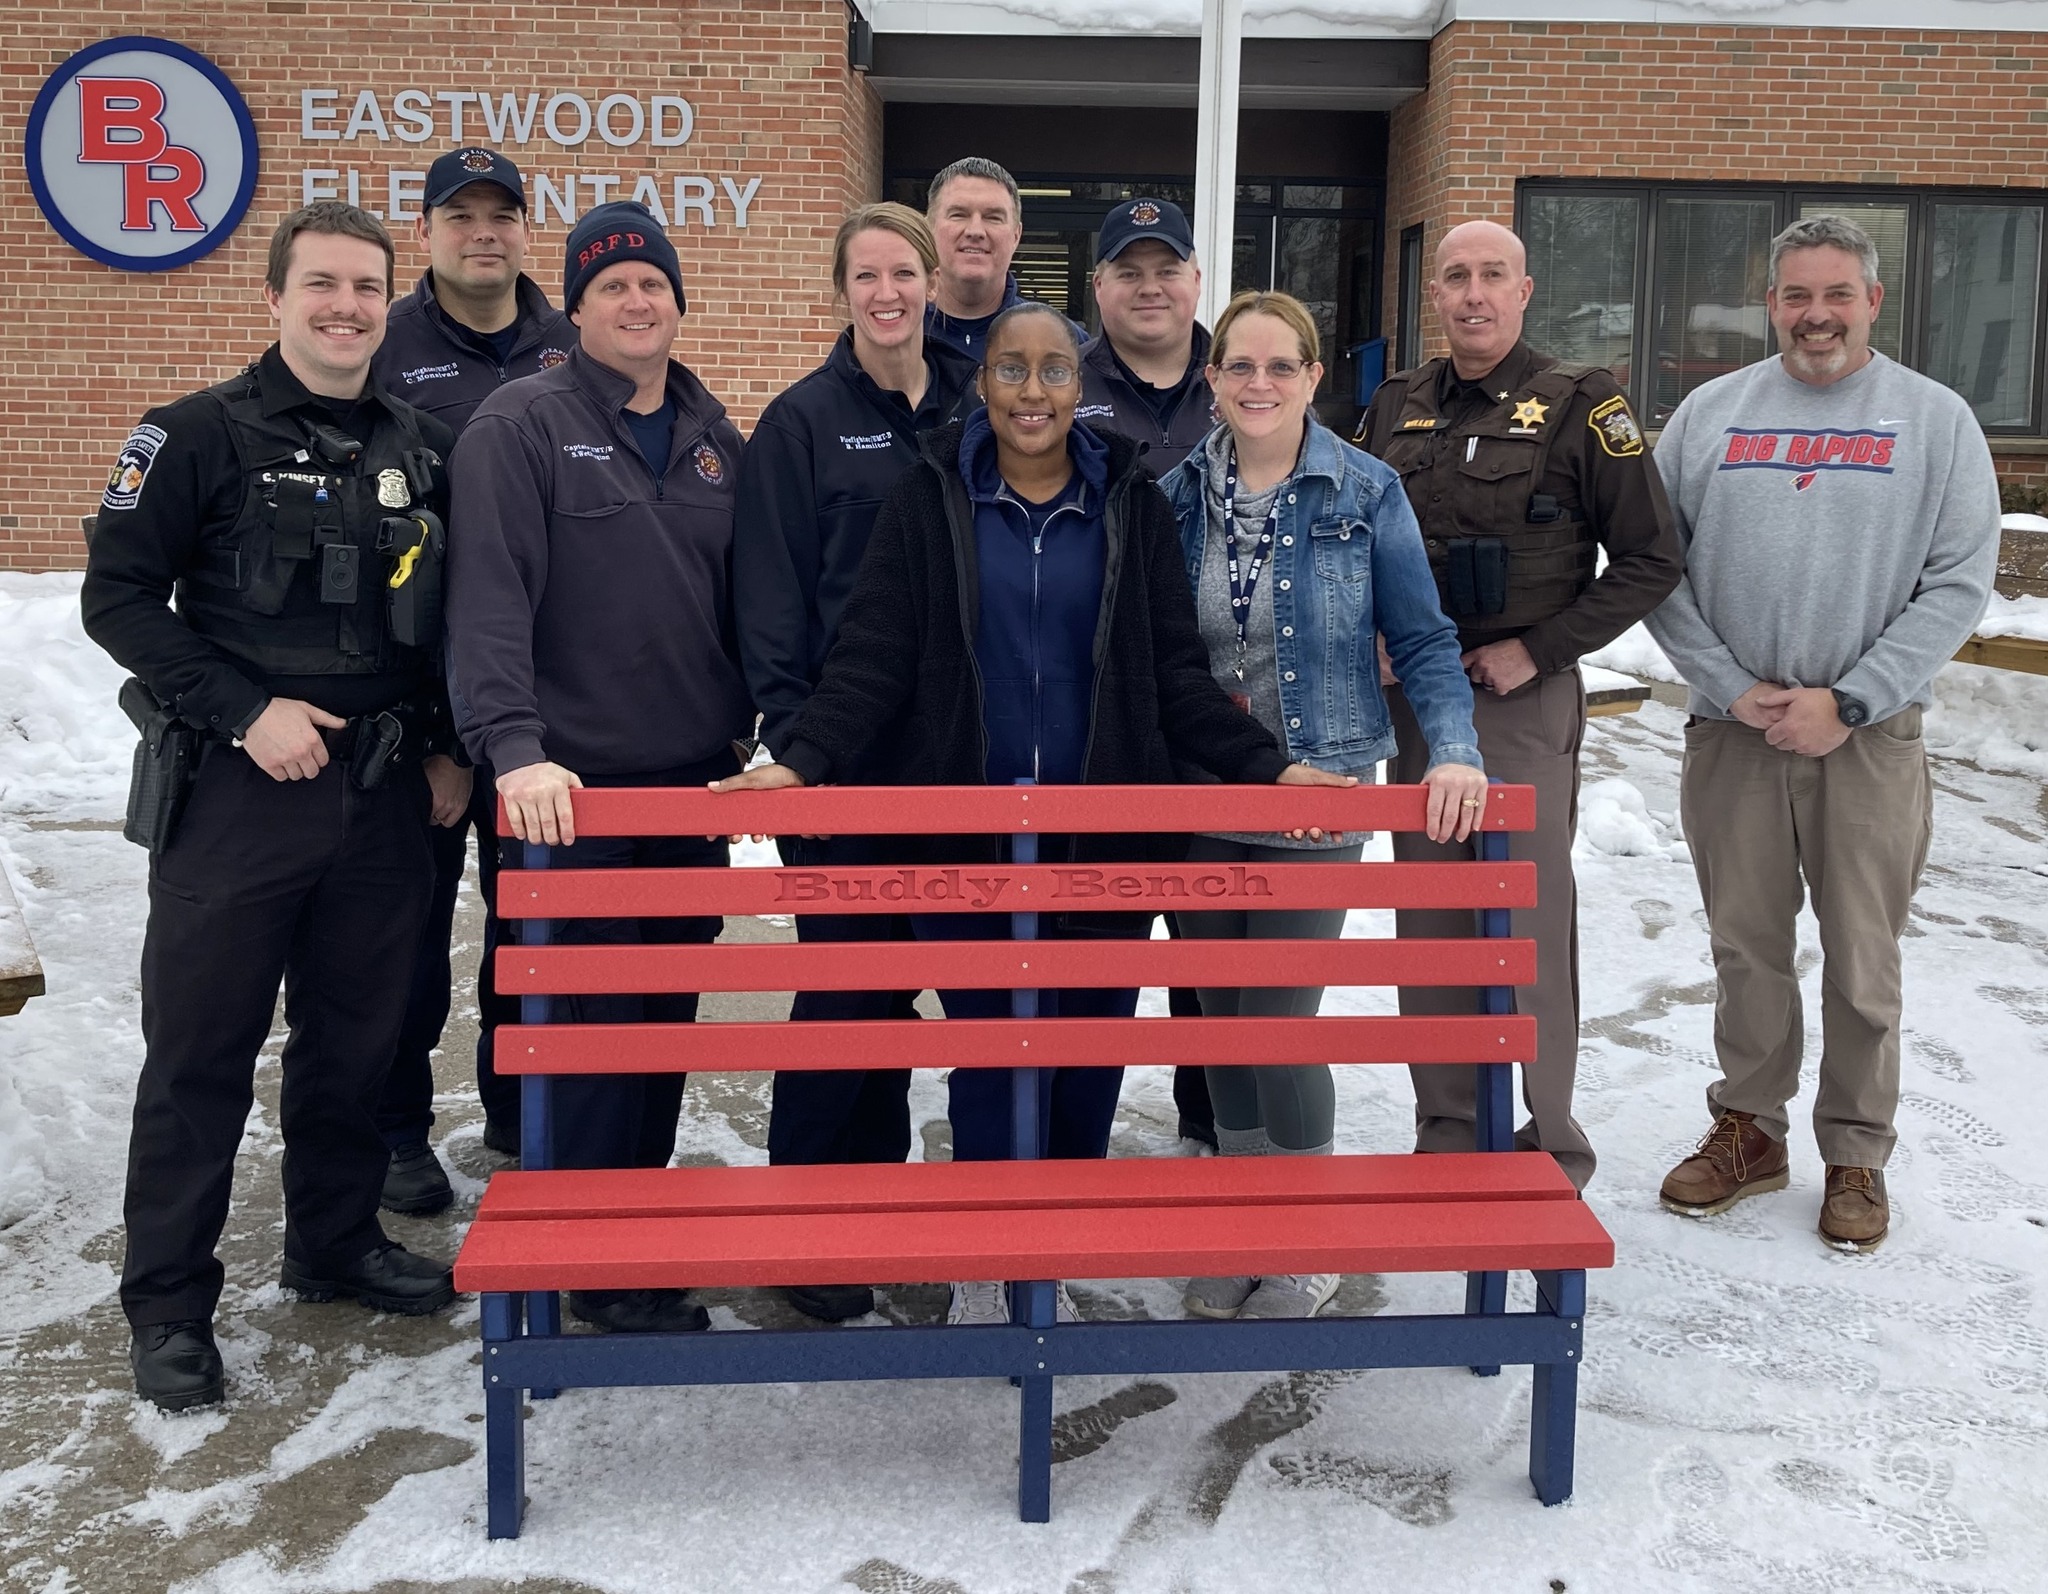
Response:
[[[991,1215],[999,1215],[991,1221]],[[1606,1268],[1540,1151],[504,1174],[463,1291]]]

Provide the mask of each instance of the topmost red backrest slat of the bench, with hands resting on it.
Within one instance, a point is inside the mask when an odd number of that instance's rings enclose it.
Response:
[[[571,793],[580,836],[985,836],[1214,830],[1421,830],[1423,787],[817,787],[735,791],[584,787]],[[1534,787],[1489,787],[1481,828],[1534,830]],[[506,828],[498,803],[498,834]]]

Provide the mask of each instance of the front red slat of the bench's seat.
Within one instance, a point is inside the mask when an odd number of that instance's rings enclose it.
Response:
[[[477,1223],[463,1291],[1606,1268],[1581,1201],[1081,1207]]]

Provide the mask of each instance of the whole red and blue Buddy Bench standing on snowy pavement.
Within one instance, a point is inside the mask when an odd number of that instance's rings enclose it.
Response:
[[[1534,865],[1507,830],[1534,793],[1493,787],[1479,863],[1231,869],[1038,865],[1042,832],[1419,830],[1419,787],[1038,787],[578,791],[580,834],[1010,834],[1016,861],[973,869],[526,869],[500,875],[522,945],[498,988],[524,1020],[498,1031],[524,1076],[522,1170],[498,1174],[455,1264],[483,1295],[489,1535],[524,1510],[522,1395],[565,1387],[1010,1377],[1022,1389],[1018,1504],[1051,1514],[1053,1379],[1061,1375],[1309,1367],[1534,1367],[1530,1479],[1571,1494],[1585,1270],[1614,1244],[1542,1153],[1511,1151],[1511,1063],[1534,1020],[1511,985],[1534,947],[1507,910],[1534,901]],[[846,885],[846,897],[840,893]],[[872,893],[862,893],[860,887]],[[887,889],[885,889],[887,887]],[[1038,942],[1036,912],[1235,899],[1276,908],[1475,908],[1470,940]],[[764,912],[1012,910],[1016,940],[793,947],[549,947],[549,920]],[[1036,1018],[1063,985],[1479,985],[1456,1018]],[[866,1024],[549,1024],[551,996],[877,988],[1012,990],[1004,1020]],[[551,1170],[549,1078],[678,1069],[1018,1067],[1016,1131],[1036,1145],[1032,1065],[1479,1065],[1479,1145],[1458,1156],[983,1162],[829,1168]],[[1534,1311],[1505,1309],[1505,1274],[1536,1274]],[[1462,1313],[1307,1322],[1055,1324],[1057,1278],[1237,1272],[1464,1272]],[[999,1328],[840,1328],[563,1334],[559,1291],[1012,1278]]]

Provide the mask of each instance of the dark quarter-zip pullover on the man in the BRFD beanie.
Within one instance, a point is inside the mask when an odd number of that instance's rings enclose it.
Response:
[[[739,432],[670,361],[657,477],[629,397],[575,348],[500,387],[455,449],[449,680],[463,742],[500,774],[680,768],[752,729],[731,623]]]

